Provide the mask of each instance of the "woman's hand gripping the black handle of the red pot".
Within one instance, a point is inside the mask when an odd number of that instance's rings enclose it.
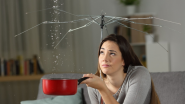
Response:
[[[92,87],[97,90],[103,90],[106,87],[104,81],[94,74],[84,74],[83,77],[89,78],[82,81],[81,84],[86,84],[88,87]]]

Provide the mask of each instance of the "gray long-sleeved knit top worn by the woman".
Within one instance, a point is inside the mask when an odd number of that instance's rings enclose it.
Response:
[[[120,87],[121,91],[117,97],[113,97],[120,104],[150,104],[151,98],[151,76],[143,66],[129,66],[125,80]],[[101,95],[97,89],[88,87],[91,104],[100,104]]]

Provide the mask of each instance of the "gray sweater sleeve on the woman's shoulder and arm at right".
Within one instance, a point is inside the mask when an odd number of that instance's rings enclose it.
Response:
[[[127,82],[128,91],[123,104],[149,104],[151,77],[147,69],[137,68]]]

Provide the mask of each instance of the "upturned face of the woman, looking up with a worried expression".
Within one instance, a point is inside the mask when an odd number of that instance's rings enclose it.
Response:
[[[113,41],[106,41],[100,48],[99,65],[106,75],[123,72],[125,65],[118,45]]]

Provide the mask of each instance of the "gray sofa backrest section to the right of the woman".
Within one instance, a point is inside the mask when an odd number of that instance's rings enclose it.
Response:
[[[185,103],[185,71],[151,73],[161,104]]]

